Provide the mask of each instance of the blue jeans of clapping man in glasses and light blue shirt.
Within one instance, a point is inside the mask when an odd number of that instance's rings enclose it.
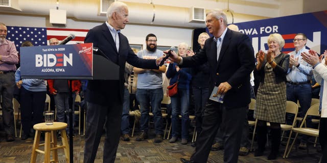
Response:
[[[304,118],[310,105],[311,105],[311,85],[303,84],[303,85],[292,85],[290,83],[286,83],[286,97],[288,101],[293,101],[297,103],[297,100],[300,104],[300,108],[298,110],[297,117]],[[292,114],[286,114],[286,123],[292,124],[294,119],[294,115]],[[312,127],[312,117],[308,116],[306,123],[307,127]],[[303,135],[302,137],[303,141],[308,140],[307,135]]]

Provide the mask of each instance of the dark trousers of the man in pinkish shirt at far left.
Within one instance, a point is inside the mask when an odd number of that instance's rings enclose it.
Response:
[[[14,134],[14,109],[12,98],[15,88],[15,73],[0,74],[0,93],[2,96],[2,116],[6,134]]]

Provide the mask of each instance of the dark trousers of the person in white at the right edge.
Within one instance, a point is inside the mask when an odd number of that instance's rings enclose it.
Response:
[[[321,162],[327,162],[327,118],[320,118],[319,142],[322,151]]]

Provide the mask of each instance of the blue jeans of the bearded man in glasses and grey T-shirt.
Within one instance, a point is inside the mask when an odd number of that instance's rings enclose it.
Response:
[[[162,124],[161,101],[164,98],[162,88],[158,89],[137,89],[136,99],[141,106],[141,127],[142,131],[148,132],[149,129],[149,112],[150,104],[153,113],[153,122],[155,134],[164,133],[164,125]]]

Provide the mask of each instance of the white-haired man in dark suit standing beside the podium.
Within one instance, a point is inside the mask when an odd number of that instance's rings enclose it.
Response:
[[[86,100],[86,133],[84,162],[94,162],[103,126],[106,138],[103,162],[114,162],[120,139],[121,115],[124,95],[125,63],[147,69],[158,69],[160,61],[139,59],[130,48],[127,38],[120,33],[128,22],[128,8],[122,2],[112,3],[107,12],[108,21],[89,30],[85,43],[101,49],[115,64],[120,66],[119,80],[89,80]],[[110,70],[108,70],[110,73]]]

